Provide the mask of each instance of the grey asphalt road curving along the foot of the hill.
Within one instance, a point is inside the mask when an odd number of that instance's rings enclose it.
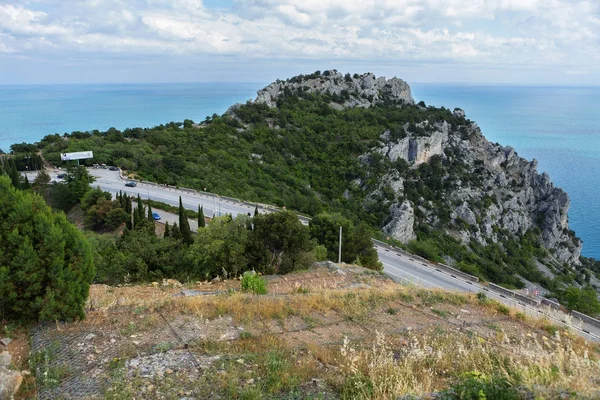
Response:
[[[109,171],[106,169],[90,169],[89,171],[97,179],[93,185],[95,187],[100,187],[100,189],[104,191],[111,192],[113,194],[123,191],[133,196],[137,196],[139,194],[143,199],[161,201],[173,206],[179,205],[179,197],[181,196],[183,206],[186,209],[197,210],[198,205],[202,205],[204,207],[204,215],[207,217],[225,214],[231,214],[234,217],[238,214],[253,214],[255,206],[258,206],[259,212],[261,213],[273,211],[265,205],[257,204],[249,206],[247,204],[240,204],[234,201],[225,200],[217,195],[189,193],[174,188],[144,183],[138,183],[136,187],[130,188],[125,186],[126,181],[121,179],[118,171]],[[52,179],[56,179],[57,174],[58,172],[52,172],[50,173],[50,176]],[[33,181],[35,175],[36,174],[29,175],[30,181]],[[161,212],[161,216],[163,216],[165,221],[175,220],[176,218],[174,215],[168,215],[168,213],[164,212]],[[303,223],[306,223],[306,221],[303,221]],[[192,222],[192,226],[193,228],[196,228],[197,224],[195,221]],[[456,292],[472,293],[484,292],[489,298],[497,300],[511,307],[520,308],[523,310],[523,312],[529,315],[537,317],[542,316],[542,310],[540,308],[521,304],[514,299],[507,298],[497,292],[489,290],[487,287],[476,282],[468,282],[463,279],[450,276],[445,272],[437,271],[433,265],[422,263],[415,259],[411,260],[409,256],[404,254],[397,253],[393,250],[377,245],[375,248],[379,254],[379,259],[383,264],[384,272],[398,282],[412,284],[427,289],[443,289]],[[554,318],[554,316],[546,315],[546,317],[554,324],[569,326],[563,321]],[[587,339],[600,341],[600,328],[587,323],[583,323],[581,329],[573,326],[570,326],[570,328]]]

